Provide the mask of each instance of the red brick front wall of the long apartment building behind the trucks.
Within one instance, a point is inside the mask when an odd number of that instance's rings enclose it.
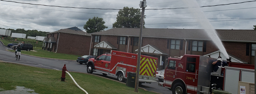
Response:
[[[138,46],[131,46],[130,45],[131,42],[132,42],[132,37],[130,37],[130,42],[127,43],[127,45],[117,44],[117,38],[118,38],[118,36],[101,35],[100,41],[108,41],[111,44],[113,44],[117,48],[118,51],[122,51],[122,52],[127,52],[128,45],[129,45],[129,52],[130,53],[137,53],[137,52],[135,52],[135,50],[137,50]],[[169,40],[171,40],[171,39],[169,39]],[[189,40],[187,40],[186,49],[185,49],[186,41],[183,40],[182,50],[170,49],[170,44],[169,44],[169,47],[167,48],[167,41],[168,41],[168,39],[143,37],[142,47],[146,46],[148,44],[154,45],[157,48],[161,49],[163,52],[168,54],[168,55],[163,55],[166,58],[170,57],[170,56],[180,57],[180,56],[185,54],[185,50],[186,50],[186,54],[191,54],[192,53],[191,52],[191,50],[192,50],[192,48],[191,48],[192,40],[190,40],[191,41],[190,51],[188,51]],[[98,44],[98,43],[93,43],[91,48],[93,48],[93,46],[95,44]],[[251,62],[252,61],[251,57],[246,56],[246,43],[245,42],[223,42],[223,45],[224,45],[224,48],[226,48],[226,51],[228,53],[230,53],[231,55],[234,55],[235,57],[237,57],[239,59],[242,59],[243,61],[246,61],[246,62]],[[195,55],[206,55],[206,54],[218,51],[218,50],[219,49],[217,48],[217,46],[212,41],[206,41],[206,52],[193,52],[193,53],[195,53]]]

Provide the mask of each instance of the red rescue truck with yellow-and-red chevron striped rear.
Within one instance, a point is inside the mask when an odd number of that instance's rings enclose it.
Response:
[[[97,58],[91,58],[87,62],[87,73],[101,72],[103,75],[117,76],[124,82],[127,72],[136,72],[137,54],[120,51],[112,51],[111,54],[102,54]],[[141,55],[139,82],[156,82],[156,68],[158,58]]]

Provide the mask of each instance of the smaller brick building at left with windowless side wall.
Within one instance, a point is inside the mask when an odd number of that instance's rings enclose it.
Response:
[[[44,50],[73,55],[89,55],[91,34],[77,27],[47,33],[43,40]]]

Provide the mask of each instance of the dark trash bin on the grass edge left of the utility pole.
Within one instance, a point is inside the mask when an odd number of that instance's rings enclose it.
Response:
[[[127,81],[126,86],[135,87],[136,73],[135,72],[127,72]]]

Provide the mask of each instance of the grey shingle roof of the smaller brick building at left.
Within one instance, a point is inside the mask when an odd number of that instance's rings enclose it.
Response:
[[[77,28],[77,27],[66,28],[66,29],[60,29],[60,30],[58,30],[58,31],[54,31],[54,32],[51,32],[51,33],[57,33],[57,32],[91,36],[91,34],[86,33],[86,32],[82,31],[81,29],[79,29],[79,28]],[[50,33],[47,33],[47,34],[50,34]]]

